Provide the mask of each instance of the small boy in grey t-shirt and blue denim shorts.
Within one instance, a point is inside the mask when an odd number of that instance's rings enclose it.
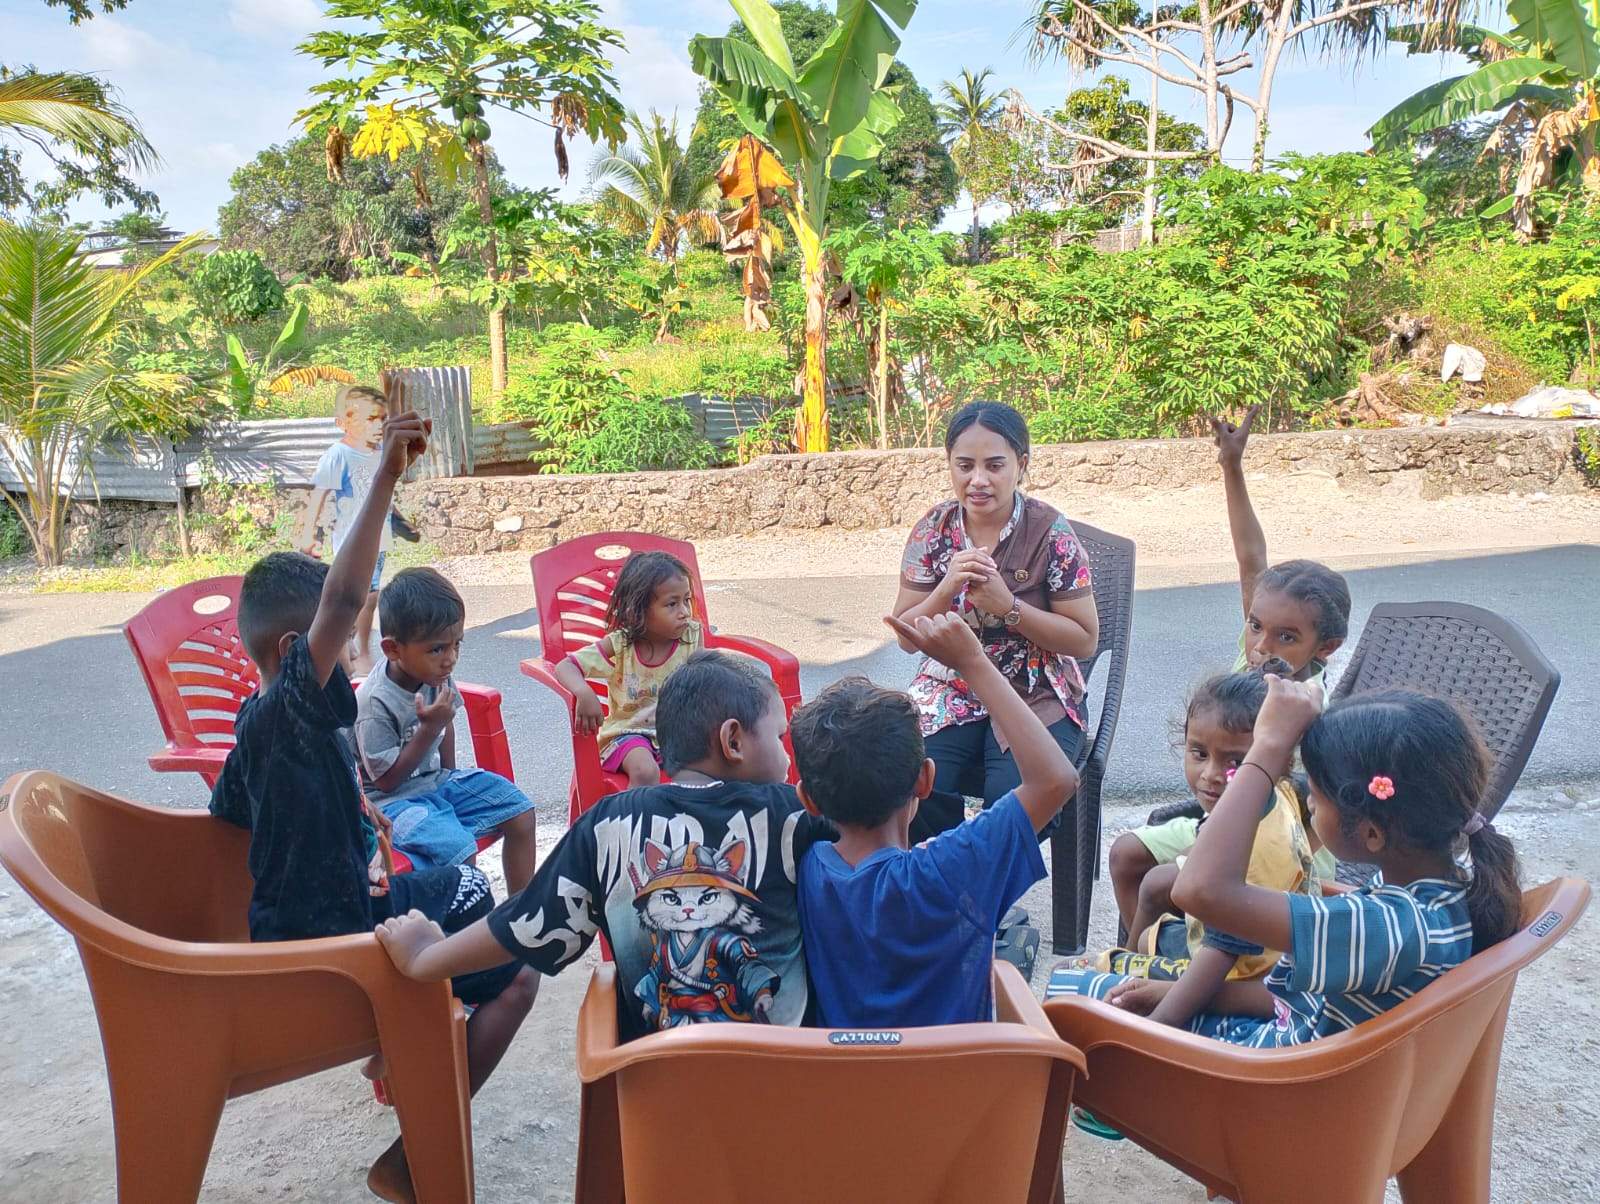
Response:
[[[456,769],[461,695],[451,669],[467,612],[434,568],[406,568],[379,602],[384,664],[355,693],[355,752],[366,797],[394,823],[395,847],[418,868],[458,865],[480,836],[504,837],[506,885],[533,877],[533,804],[499,773]]]

